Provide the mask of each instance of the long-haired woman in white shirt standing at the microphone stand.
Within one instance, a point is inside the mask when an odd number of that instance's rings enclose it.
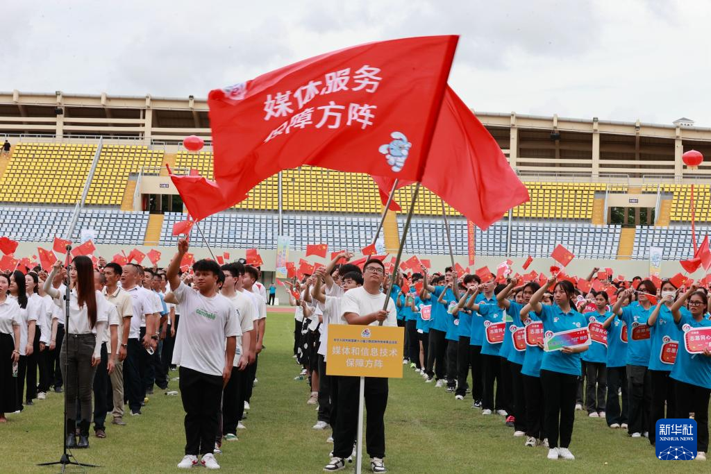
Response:
[[[45,281],[44,291],[60,308],[65,308],[65,295],[53,288],[51,282],[61,270],[62,262],[55,262]],[[72,280],[69,317],[65,323],[65,340],[60,352],[60,365],[65,382],[67,413],[66,444],[68,448],[89,447],[89,426],[92,416],[92,385],[96,366],[101,362],[102,338],[107,325],[106,299],[94,286],[94,265],[89,257],[75,257],[69,267]],[[80,402],[77,413],[76,399]],[[80,436],[77,442],[76,425]]]

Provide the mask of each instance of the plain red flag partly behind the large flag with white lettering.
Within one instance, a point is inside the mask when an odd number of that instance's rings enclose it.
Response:
[[[429,155],[422,185],[480,229],[529,200],[528,190],[496,140],[451,87],[444,94]],[[456,179],[451,177],[453,170]],[[392,178],[373,176],[373,180],[380,190],[390,192]],[[397,187],[411,183],[400,179]]]

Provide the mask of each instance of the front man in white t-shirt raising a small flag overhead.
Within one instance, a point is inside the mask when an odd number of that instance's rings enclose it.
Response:
[[[232,375],[237,350],[237,336],[242,334],[232,303],[218,293],[220,266],[212,260],[193,264],[195,289],[180,277],[181,260],[188,252],[188,241],[178,240],[178,253],[166,271],[166,278],[183,316],[178,329],[180,350],[173,361],[180,366],[180,392],[185,410],[185,456],[178,468],[192,468],[201,463],[219,469],[213,455],[218,411],[223,388]]]

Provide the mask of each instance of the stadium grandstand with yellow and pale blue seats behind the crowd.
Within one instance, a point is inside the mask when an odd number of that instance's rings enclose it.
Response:
[[[591,259],[586,268],[629,260],[623,268],[643,273],[651,246],[663,247],[665,260],[688,258],[692,185],[697,235],[711,230],[711,161],[696,170],[682,161],[690,149],[711,156],[711,129],[688,119],[646,124],[476,114],[530,193],[529,203],[476,230],[482,265],[548,257],[558,243],[576,255],[576,264]],[[191,134],[205,139],[202,151],[182,148]],[[172,225],[186,214],[166,163],[178,174],[213,177],[207,104],[192,96],[0,92],[0,139],[11,143],[0,156],[0,235],[21,241],[18,254],[47,247],[76,221],[71,237],[90,232],[100,254],[154,247],[167,263],[176,243]],[[407,203],[410,193],[403,188],[395,199]],[[447,262],[442,209],[432,193],[420,195],[406,254]],[[444,209],[454,254],[466,263],[467,222]],[[296,258],[309,243],[357,250],[370,244],[382,210],[370,177],[304,166],[268,178],[242,203],[201,222],[201,230],[220,251],[260,249],[269,271],[278,235],[291,236]],[[387,214],[383,244],[390,252],[404,217]],[[206,254],[196,229],[191,245]]]

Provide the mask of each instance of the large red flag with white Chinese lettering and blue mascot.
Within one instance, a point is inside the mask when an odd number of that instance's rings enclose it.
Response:
[[[228,205],[304,164],[419,181],[458,39],[368,43],[211,91],[215,180]]]

